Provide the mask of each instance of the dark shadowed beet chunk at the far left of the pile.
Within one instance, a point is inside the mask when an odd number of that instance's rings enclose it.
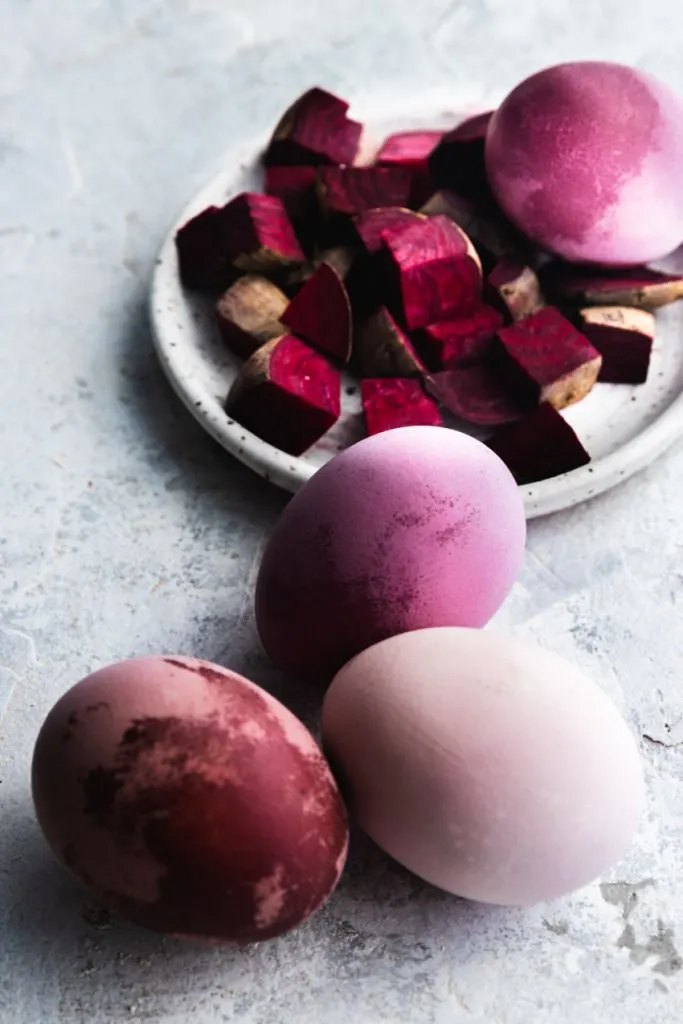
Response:
[[[178,272],[185,288],[214,292],[233,275],[227,258],[225,213],[217,206],[198,213],[176,232]]]

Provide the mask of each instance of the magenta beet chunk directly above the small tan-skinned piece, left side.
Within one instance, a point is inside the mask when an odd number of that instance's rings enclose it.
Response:
[[[283,201],[242,193],[223,209],[230,262],[239,270],[267,273],[303,263]]]

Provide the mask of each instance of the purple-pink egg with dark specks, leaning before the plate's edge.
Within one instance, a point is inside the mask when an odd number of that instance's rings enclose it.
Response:
[[[280,668],[326,682],[379,640],[483,626],[519,571],[517,486],[480,441],[443,427],[368,437],[290,502],[256,585],[256,622]]]

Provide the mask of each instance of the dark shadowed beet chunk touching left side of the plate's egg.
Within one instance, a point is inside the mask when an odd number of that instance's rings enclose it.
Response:
[[[493,111],[479,114],[446,132],[428,161],[435,188],[453,188],[468,199],[489,195],[484,143],[493,116]]]

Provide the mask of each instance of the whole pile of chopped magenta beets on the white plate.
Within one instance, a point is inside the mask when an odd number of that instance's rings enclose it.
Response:
[[[536,250],[489,191],[489,118],[392,135],[359,166],[362,126],[311,89],[263,156],[266,195],[180,228],[183,285],[216,297],[245,360],[231,417],[300,455],[339,419],[350,369],[369,434],[447,414],[485,428],[520,483],[590,461],[561,410],[599,381],[646,380],[651,310],[683,296],[683,278]]]

